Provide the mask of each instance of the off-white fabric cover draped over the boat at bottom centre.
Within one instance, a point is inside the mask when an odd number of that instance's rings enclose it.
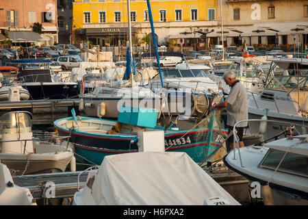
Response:
[[[186,153],[124,153],[103,159],[92,186],[97,205],[240,205]]]

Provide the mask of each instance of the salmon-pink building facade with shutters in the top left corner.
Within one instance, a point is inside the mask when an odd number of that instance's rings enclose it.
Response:
[[[45,39],[38,44],[53,44],[57,42],[56,7],[57,0],[0,0],[0,29],[9,32],[32,31],[34,23],[40,23],[40,36]]]

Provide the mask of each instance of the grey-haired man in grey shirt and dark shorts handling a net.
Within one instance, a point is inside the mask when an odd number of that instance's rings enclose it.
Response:
[[[220,110],[226,107],[227,110],[227,127],[229,128],[229,133],[233,130],[235,123],[240,120],[248,119],[248,105],[247,105],[247,92],[246,88],[236,79],[235,75],[229,71],[224,73],[224,82],[231,87],[227,101],[224,101],[214,107],[211,110]],[[239,138],[240,147],[244,146],[243,129],[247,126],[247,122],[240,123],[236,126],[238,131],[237,135]],[[227,151],[231,150],[230,144],[233,148],[233,135],[227,140]]]

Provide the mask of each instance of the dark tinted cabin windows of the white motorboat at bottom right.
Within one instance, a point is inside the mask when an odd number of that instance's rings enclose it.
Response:
[[[285,151],[269,149],[268,153],[266,153],[266,156],[259,164],[259,167],[275,170],[284,154]],[[308,177],[308,157],[295,153],[287,153],[277,171]]]

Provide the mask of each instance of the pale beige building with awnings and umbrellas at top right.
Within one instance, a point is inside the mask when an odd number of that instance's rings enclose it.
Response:
[[[307,44],[307,0],[221,1],[222,18],[218,13],[218,26],[222,21],[225,28],[239,31],[241,42],[253,46],[272,45],[272,47]],[[224,37],[224,42],[230,45],[236,44],[238,40],[234,37]]]

